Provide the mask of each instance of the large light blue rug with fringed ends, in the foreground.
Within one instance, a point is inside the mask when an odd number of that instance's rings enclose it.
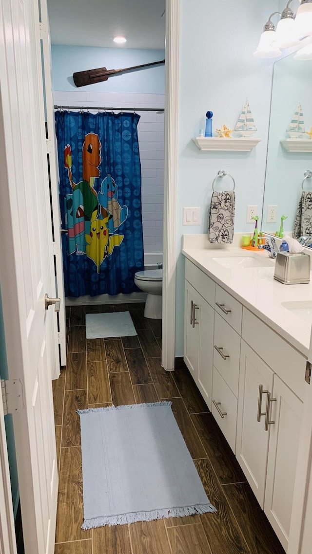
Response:
[[[79,410],[82,529],[215,512],[171,402]]]

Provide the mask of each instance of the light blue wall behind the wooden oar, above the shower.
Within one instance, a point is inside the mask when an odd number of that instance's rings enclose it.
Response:
[[[164,59],[163,50],[95,48],[52,45],[54,90],[82,90],[103,93],[164,94],[164,65],[110,77],[104,83],[76,88],[73,73],[105,66],[120,69]],[[122,106],[121,106],[122,107]]]

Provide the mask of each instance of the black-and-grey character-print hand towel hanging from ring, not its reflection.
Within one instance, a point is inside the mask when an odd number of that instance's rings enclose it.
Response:
[[[209,242],[231,244],[234,234],[235,192],[213,192],[210,204]]]

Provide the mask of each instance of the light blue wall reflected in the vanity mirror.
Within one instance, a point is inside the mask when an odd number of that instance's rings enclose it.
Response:
[[[289,138],[286,128],[298,102],[303,107],[305,129],[312,126],[312,61],[298,61],[294,54],[274,64],[268,162],[266,164],[265,194],[262,228],[270,233],[280,226],[281,215],[288,216],[284,230],[292,231],[296,208],[301,195],[301,184],[306,170],[312,171],[311,152],[287,152],[280,144]],[[304,139],[309,139],[304,135]],[[312,179],[305,182],[312,190]],[[277,223],[266,223],[268,204],[278,206]]]

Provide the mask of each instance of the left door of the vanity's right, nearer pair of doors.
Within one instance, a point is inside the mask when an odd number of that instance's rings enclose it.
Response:
[[[262,509],[270,427],[265,430],[265,416],[260,414],[266,412],[266,391],[272,389],[273,371],[242,340],[236,458]]]

